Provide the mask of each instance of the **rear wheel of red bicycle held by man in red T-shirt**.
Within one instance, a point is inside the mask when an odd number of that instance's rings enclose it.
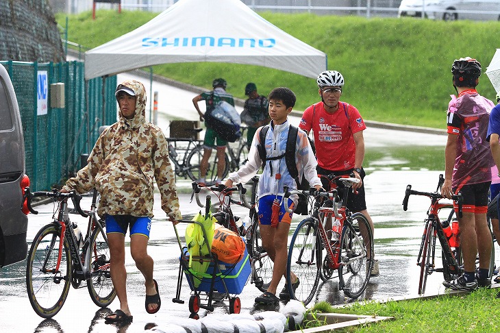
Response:
[[[358,298],[370,280],[373,264],[373,234],[366,217],[352,214],[342,229],[340,238],[339,284],[344,294]]]

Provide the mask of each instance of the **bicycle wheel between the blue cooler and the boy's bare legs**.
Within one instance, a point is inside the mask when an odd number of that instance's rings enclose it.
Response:
[[[264,293],[267,291],[273,278],[273,260],[267,255],[266,249],[262,247],[260,238],[260,226],[255,214],[247,237],[247,251],[251,258],[252,280],[255,286]]]

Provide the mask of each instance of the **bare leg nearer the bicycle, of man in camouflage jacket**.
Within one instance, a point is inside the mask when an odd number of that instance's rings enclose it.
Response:
[[[120,310],[130,315],[127,301],[127,271],[125,270],[125,236],[123,234],[108,234],[110,246],[110,274],[116,296],[120,301]]]

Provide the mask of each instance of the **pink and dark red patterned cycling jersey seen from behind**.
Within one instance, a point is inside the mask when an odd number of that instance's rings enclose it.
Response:
[[[448,106],[448,134],[458,135],[457,154],[451,186],[491,181],[493,158],[486,141],[488,120],[493,103],[475,89],[466,90],[458,98],[451,96]]]

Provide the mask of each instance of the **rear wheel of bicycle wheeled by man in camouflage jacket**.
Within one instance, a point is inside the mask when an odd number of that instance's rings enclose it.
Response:
[[[90,236],[90,277],[87,288],[95,305],[104,308],[116,297],[110,275],[110,248],[104,230],[96,227]]]

